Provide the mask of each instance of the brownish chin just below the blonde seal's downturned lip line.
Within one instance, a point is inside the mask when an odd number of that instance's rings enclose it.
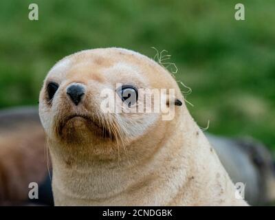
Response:
[[[68,142],[89,142],[94,138],[112,137],[104,126],[88,115],[69,115],[57,124],[58,137]]]

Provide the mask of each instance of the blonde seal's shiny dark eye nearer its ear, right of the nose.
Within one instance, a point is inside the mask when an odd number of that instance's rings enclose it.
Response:
[[[122,85],[122,87],[118,90],[118,94],[120,95],[122,101],[128,104],[129,107],[137,102],[137,88],[132,85]]]

